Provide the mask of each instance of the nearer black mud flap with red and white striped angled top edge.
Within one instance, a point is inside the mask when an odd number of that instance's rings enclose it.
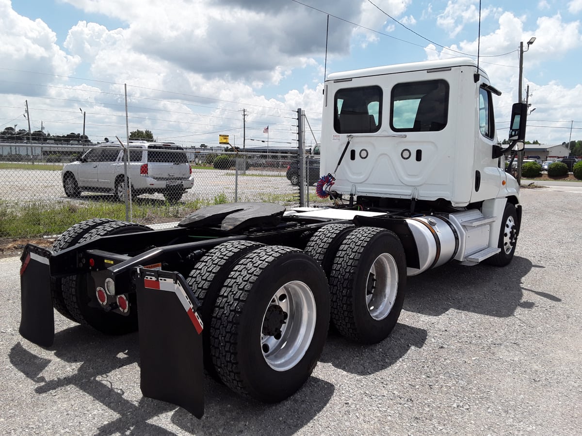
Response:
[[[139,313],[141,392],[204,414],[199,303],[180,273],[133,269]]]

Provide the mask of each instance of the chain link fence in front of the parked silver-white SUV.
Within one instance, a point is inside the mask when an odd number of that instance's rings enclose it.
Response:
[[[305,204],[319,202],[319,161],[306,159]],[[228,202],[299,205],[297,153],[130,142],[0,144],[0,239],[62,233],[94,217],[179,221]],[[315,165],[317,164],[317,165]],[[127,187],[131,187],[129,190]]]

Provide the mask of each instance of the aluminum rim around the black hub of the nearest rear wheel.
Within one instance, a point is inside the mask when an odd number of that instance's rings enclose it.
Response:
[[[280,335],[264,334],[268,313],[273,309],[286,313]],[[261,351],[265,362],[275,371],[286,371],[299,363],[311,344],[316,321],[315,298],[307,284],[290,281],[279,288],[262,317]]]

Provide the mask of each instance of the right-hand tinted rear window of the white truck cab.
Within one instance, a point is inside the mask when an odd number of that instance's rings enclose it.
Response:
[[[399,83],[392,88],[390,127],[396,132],[439,131],[449,116],[445,80]]]

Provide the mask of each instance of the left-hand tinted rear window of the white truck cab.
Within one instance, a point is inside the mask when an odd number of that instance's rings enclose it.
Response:
[[[382,88],[344,88],[335,94],[333,128],[337,133],[374,133],[382,123]]]

